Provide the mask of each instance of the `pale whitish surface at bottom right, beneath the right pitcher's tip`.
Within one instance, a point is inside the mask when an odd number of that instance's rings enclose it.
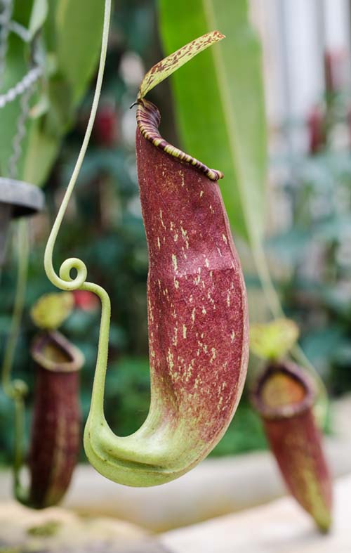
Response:
[[[351,459],[350,459],[351,468]],[[173,553],[350,553],[351,475],[334,486],[334,523],[321,535],[290,497],[161,536]]]

